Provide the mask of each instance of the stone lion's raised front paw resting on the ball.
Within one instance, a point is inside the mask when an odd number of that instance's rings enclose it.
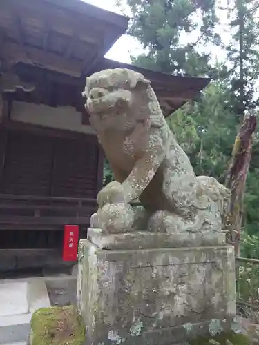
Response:
[[[99,208],[102,208],[105,204],[119,204],[124,202],[124,188],[123,185],[117,181],[107,184],[97,195]]]

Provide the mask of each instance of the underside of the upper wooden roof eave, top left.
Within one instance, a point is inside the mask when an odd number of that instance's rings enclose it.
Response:
[[[6,61],[22,61],[74,77],[95,66],[124,33],[128,19],[84,2],[72,1],[66,6],[65,2],[0,1],[0,27],[10,37],[4,49],[0,37],[0,58],[4,53]],[[6,17],[12,20],[12,28]],[[55,35],[57,45],[52,42]]]

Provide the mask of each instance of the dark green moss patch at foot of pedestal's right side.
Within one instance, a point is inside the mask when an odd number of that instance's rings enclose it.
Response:
[[[190,345],[251,345],[249,339],[242,334],[233,332],[220,333],[214,337],[198,337],[189,342]]]

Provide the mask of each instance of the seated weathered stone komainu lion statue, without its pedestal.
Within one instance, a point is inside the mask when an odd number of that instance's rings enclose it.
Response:
[[[103,70],[86,79],[83,95],[115,176],[99,192],[92,227],[107,233],[222,229],[229,190],[195,176],[150,81],[133,70]],[[131,206],[136,199],[141,206]]]

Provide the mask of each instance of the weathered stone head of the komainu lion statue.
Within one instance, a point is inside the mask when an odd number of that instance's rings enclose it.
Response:
[[[126,68],[102,70],[86,78],[86,110],[98,131],[128,130],[144,119],[150,101],[150,81]]]

